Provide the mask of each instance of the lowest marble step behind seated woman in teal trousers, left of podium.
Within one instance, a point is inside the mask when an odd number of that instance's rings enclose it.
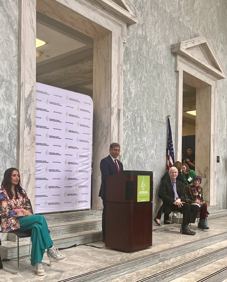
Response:
[[[57,248],[68,248],[75,244],[82,245],[102,240],[102,230],[95,229],[89,231],[74,232],[64,235],[51,236]],[[30,238],[20,239],[19,257],[28,256]],[[17,258],[17,242],[3,241],[0,254],[2,259]]]

